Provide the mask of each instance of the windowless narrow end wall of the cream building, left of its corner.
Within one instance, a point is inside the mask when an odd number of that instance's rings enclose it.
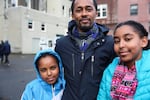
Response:
[[[22,26],[21,26],[21,9],[14,7],[7,9],[6,33],[4,40],[9,40],[12,52],[21,52],[22,50]]]

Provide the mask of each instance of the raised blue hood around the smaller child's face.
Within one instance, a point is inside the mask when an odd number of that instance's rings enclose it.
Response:
[[[45,53],[54,55],[58,59],[58,61],[59,61],[59,77],[58,77],[58,81],[57,81],[57,83],[55,83],[54,87],[55,87],[55,89],[58,89],[58,90],[62,89],[62,88],[64,89],[65,88],[65,80],[64,80],[64,72],[63,72],[62,61],[61,61],[61,58],[58,55],[58,53],[56,53],[54,50],[45,49],[45,50],[41,50],[41,51],[36,53],[36,55],[34,57],[34,69],[36,70],[38,80],[41,81],[41,83],[43,85],[48,84],[45,81],[43,81],[43,79],[41,78],[40,73],[37,69],[37,65],[36,65],[36,61],[39,59],[39,57],[41,57],[42,54],[45,54]]]

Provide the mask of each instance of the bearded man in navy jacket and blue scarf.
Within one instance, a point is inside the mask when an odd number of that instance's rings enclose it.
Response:
[[[104,69],[114,57],[108,28],[95,23],[95,0],[73,0],[68,35],[56,42],[65,72],[62,100],[96,100]]]

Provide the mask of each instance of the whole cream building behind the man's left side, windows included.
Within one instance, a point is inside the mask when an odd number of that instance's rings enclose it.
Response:
[[[13,53],[54,48],[55,40],[66,34],[69,0],[0,1],[0,40],[8,40]]]

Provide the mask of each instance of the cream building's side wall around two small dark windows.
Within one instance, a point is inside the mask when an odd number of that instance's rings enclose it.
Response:
[[[45,14],[45,13],[41,13],[41,12],[37,12],[36,10],[28,10],[26,9],[26,11],[28,11],[28,15],[25,14],[22,20],[22,26],[27,26],[28,24],[28,20],[32,19],[33,20],[33,26],[34,29],[33,30],[29,30],[27,27],[25,27],[22,30],[22,38],[23,38],[23,53],[30,53],[34,50],[34,47],[32,42],[33,39],[40,39],[40,38],[46,38],[46,39],[50,39],[53,40],[56,37],[56,34],[65,34],[66,33],[66,29],[67,29],[67,22],[68,20],[66,18],[60,18],[57,16],[52,16],[50,14]],[[42,16],[41,16],[42,15]],[[45,23],[46,26],[46,31],[42,32],[41,31],[41,24]],[[29,43],[26,43],[26,38],[30,39]],[[39,45],[39,44],[36,44]],[[30,48],[26,48],[26,47],[30,47]],[[34,51],[33,51],[34,52]]]

